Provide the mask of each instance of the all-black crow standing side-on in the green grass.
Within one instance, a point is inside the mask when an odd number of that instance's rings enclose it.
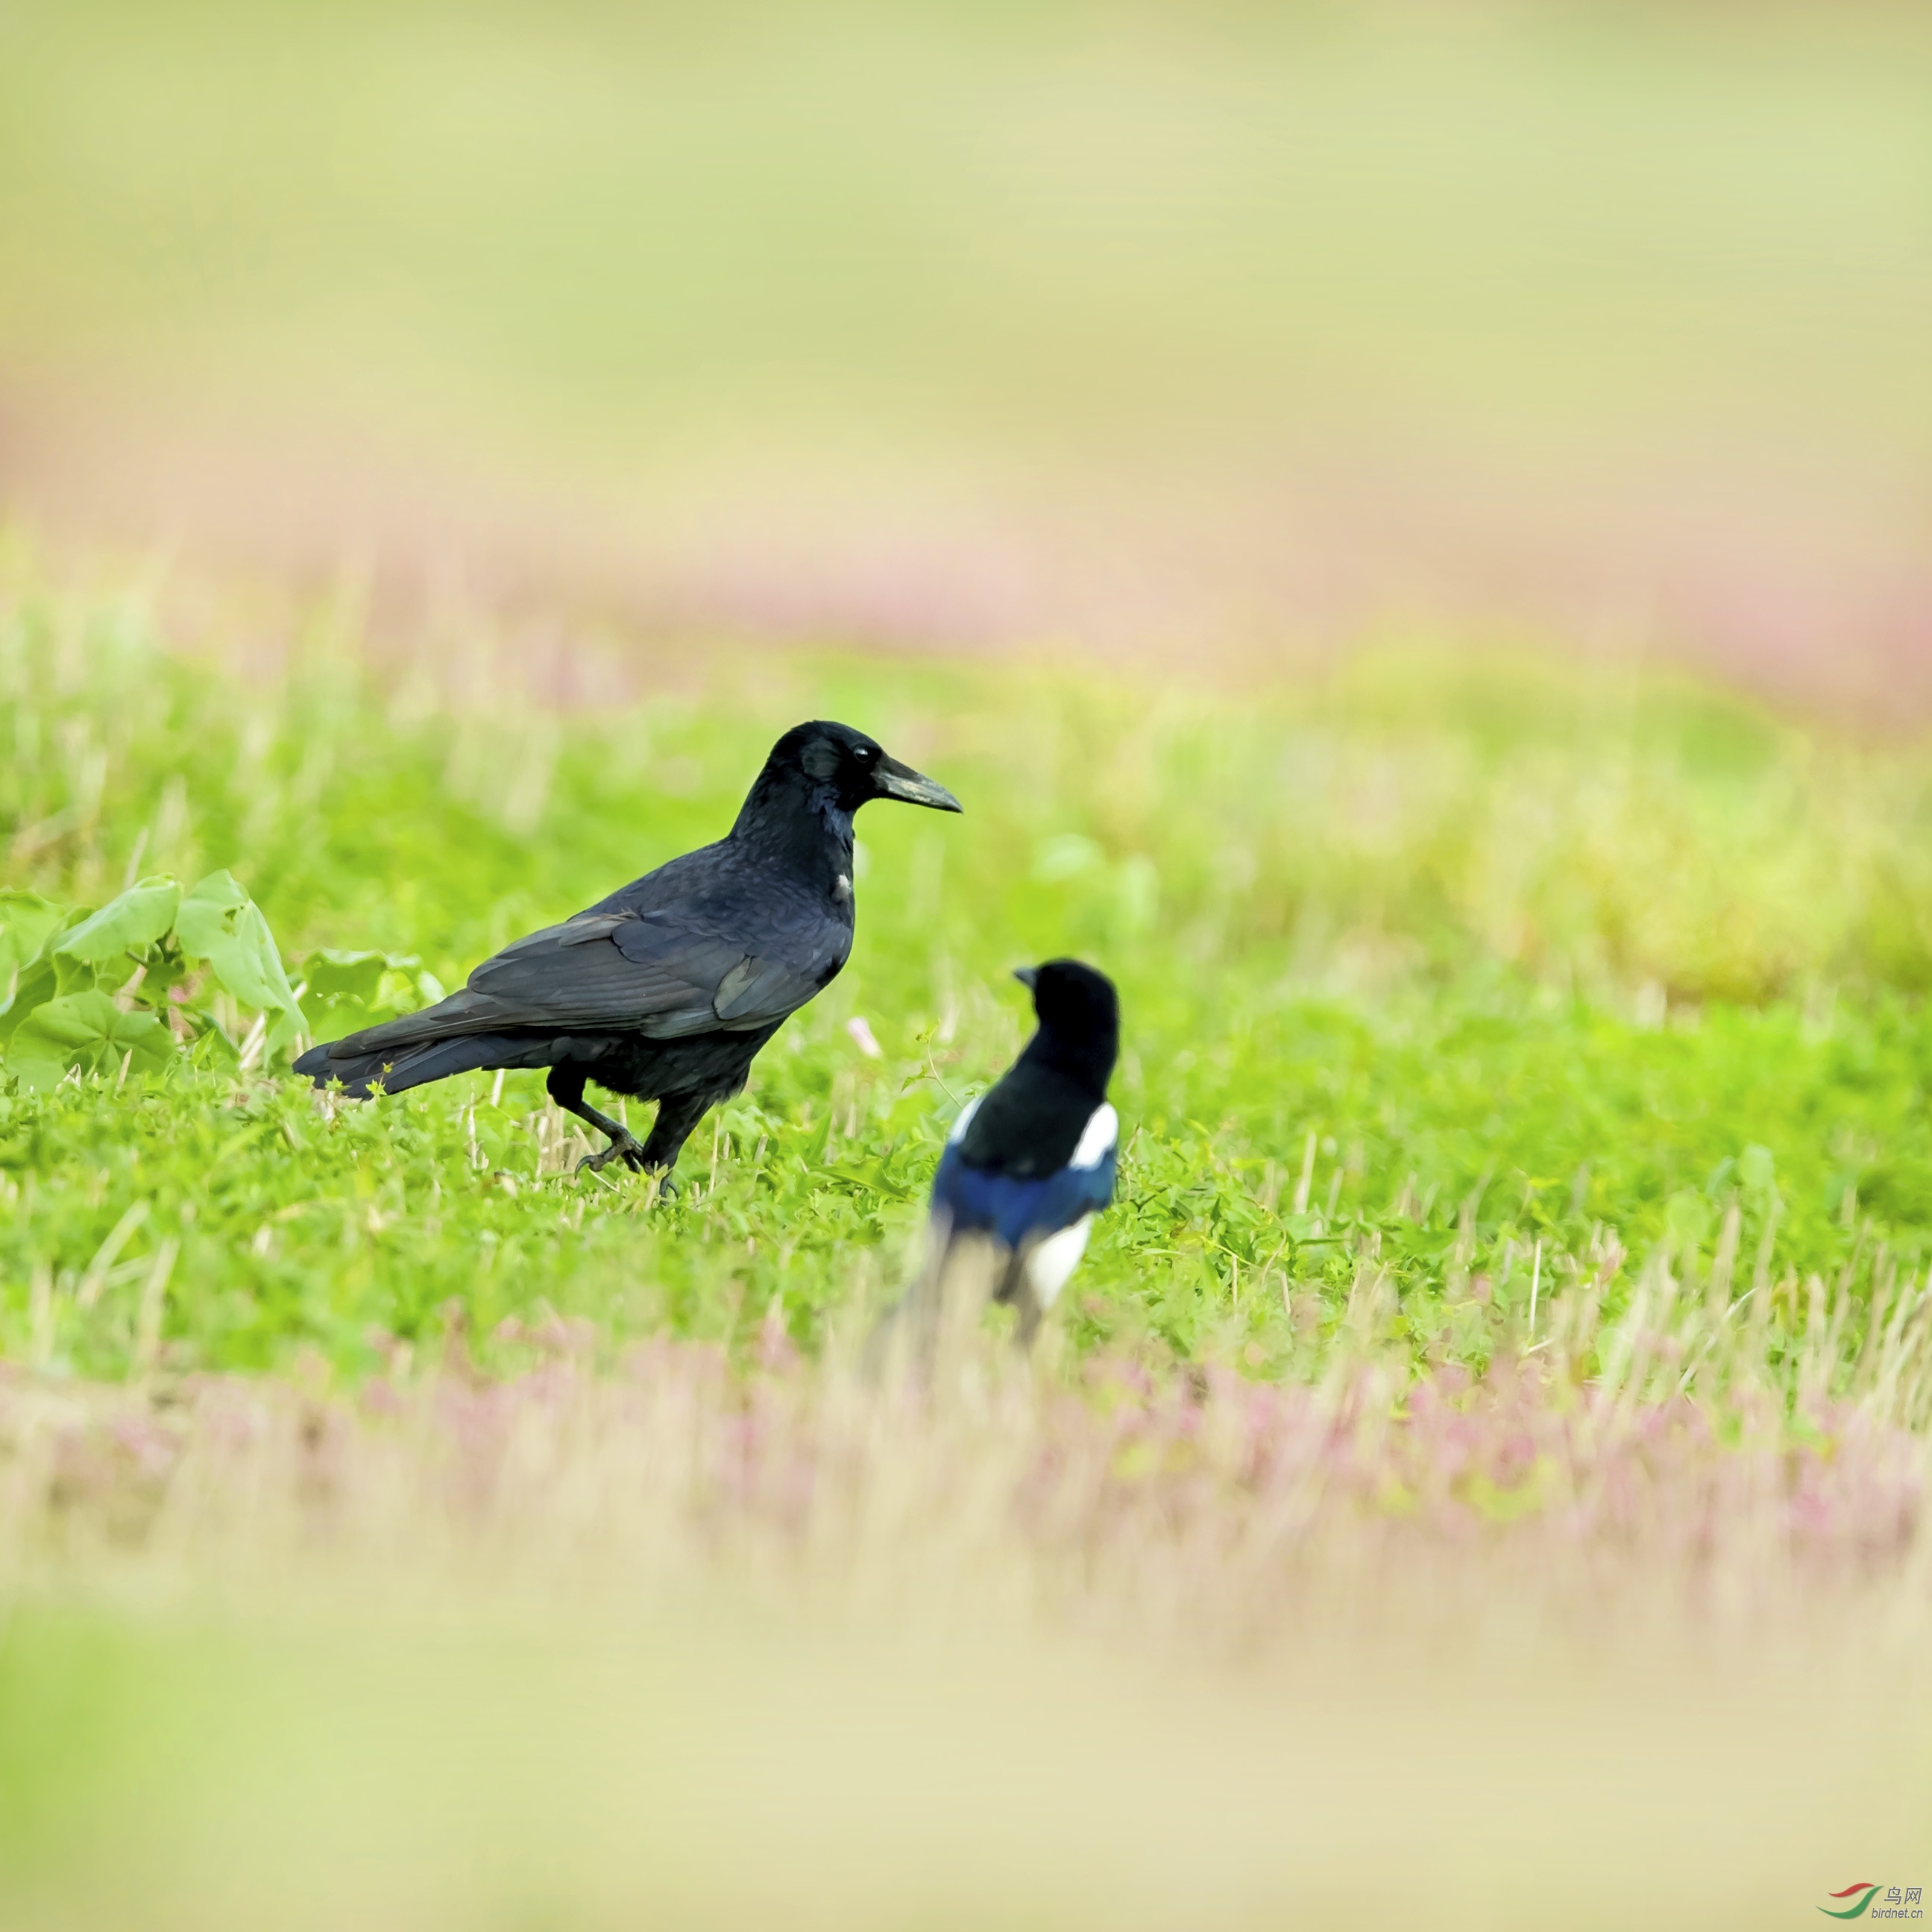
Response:
[[[744,1086],[757,1049],[844,966],[852,813],[871,798],[962,810],[850,724],[796,724],[717,844],[514,941],[435,1007],[311,1047],[296,1072],[365,1099],[549,1066],[551,1099],[611,1140],[580,1169],[622,1159],[668,1177],[705,1109]],[[655,1099],[649,1140],[591,1107],[589,1080]]]

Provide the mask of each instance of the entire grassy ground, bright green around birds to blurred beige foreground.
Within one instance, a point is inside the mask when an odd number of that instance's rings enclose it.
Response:
[[[325,949],[456,983],[715,837],[798,717],[966,817],[860,821],[852,966],[676,1202],[578,1179],[535,1076],[344,1107],[218,1001],[153,1065],[0,1057],[8,1924],[1917,1882],[1922,744],[1420,638],[1238,696],[583,641],[568,709],[481,620],[172,624],[8,543],[6,885],[226,869],[309,1028]],[[1055,951],[1122,987],[1121,1202],[1030,1366],[867,1381]]]

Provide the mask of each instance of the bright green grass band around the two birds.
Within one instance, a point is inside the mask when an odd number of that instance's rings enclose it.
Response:
[[[904,1277],[954,1103],[1024,1037],[1007,970],[1063,951],[1126,1014],[1078,1350],[1308,1376],[1370,1321],[1482,1364],[1528,1341],[1532,1283],[1611,1314],[1656,1265],[1700,1296],[1758,1281],[1774,1370],[1818,1275],[1849,1374],[1874,1291],[1897,1308],[1932,1262],[1917,746],[1418,645],[1246,696],[715,653],[676,696],[553,715],[377,678],[338,632],[315,612],[249,678],[236,636],[164,651],[137,599],[15,545],[0,883],[99,904],[226,866],[290,960],[383,947],[454,985],[717,837],[800,717],[873,730],[966,815],[864,813],[852,964],[694,1136],[676,1202],[568,1173],[535,1074],[361,1107],[185,1063],[0,1080],[8,1356],[124,1374],[166,1242],[180,1368],[359,1374],[450,1304],[502,1364],[498,1323],[553,1312],[609,1349],[738,1345],[777,1302],[817,1347]]]

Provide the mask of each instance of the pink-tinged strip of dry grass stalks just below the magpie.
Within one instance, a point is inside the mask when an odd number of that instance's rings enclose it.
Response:
[[[1621,1381],[1580,1379],[1569,1349],[1480,1378],[1360,1350],[1273,1385],[1107,1356],[1030,1372],[968,1341],[933,1381],[881,1385],[800,1360],[777,1323],[742,1368],[657,1341],[601,1374],[587,1327],[554,1323],[506,1378],[460,1337],[342,1391],[12,1374],[0,1534],[15,1588],[750,1582],[1215,1654],[1337,1619],[1464,1629],[1499,1592],[1592,1638],[1820,1605],[1932,1627],[1932,1447],[1882,1368],[1859,1399],[1787,1408],[1737,1358],[1716,1393],[1673,1387],[1669,1341],[1640,1333]]]

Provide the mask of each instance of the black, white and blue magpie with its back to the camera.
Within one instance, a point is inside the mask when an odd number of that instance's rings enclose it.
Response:
[[[1121,1051],[1113,981],[1078,960],[1022,966],[1039,1028],[1005,1076],[960,1109],[933,1177],[927,1294],[962,1242],[993,1250],[995,1302],[1032,1347],[1113,1200],[1121,1121],[1107,1080]]]

